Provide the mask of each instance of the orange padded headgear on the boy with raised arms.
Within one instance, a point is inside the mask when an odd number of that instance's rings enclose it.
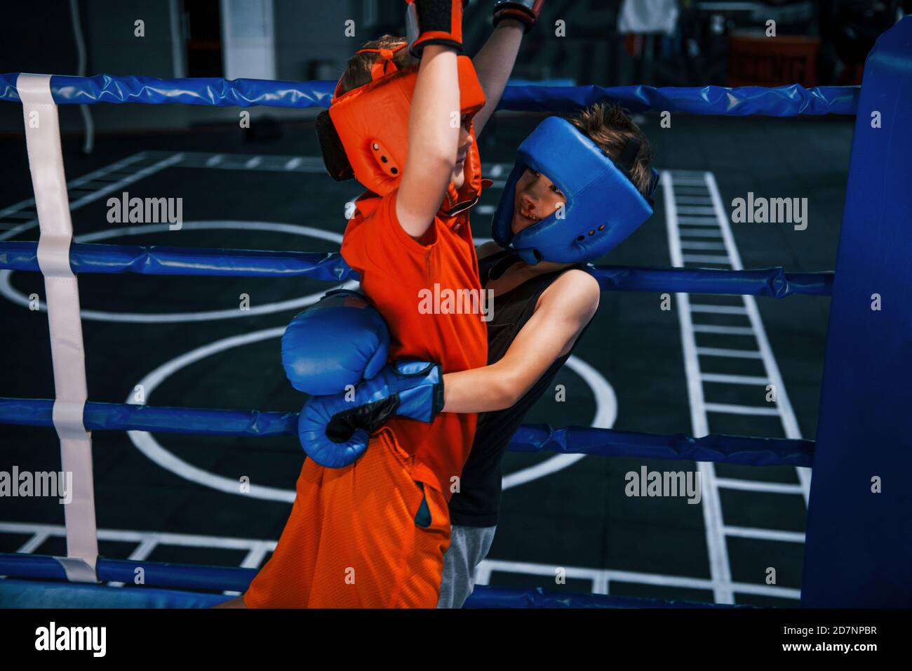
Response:
[[[393,54],[407,46],[403,42],[392,49],[362,49],[358,53],[377,52],[371,68],[373,80],[340,93],[342,80],[336,85],[328,113],[321,112],[316,131],[323,150],[326,170],[336,180],[358,179],[378,195],[389,194],[399,187],[402,167],[409,153],[409,108],[415,91],[418,71],[399,70]],[[472,66],[472,59],[460,56],[459,86],[461,114],[472,115],[484,106],[484,91]],[[481,189],[481,160],[475,142],[465,159],[463,190],[478,194]]]

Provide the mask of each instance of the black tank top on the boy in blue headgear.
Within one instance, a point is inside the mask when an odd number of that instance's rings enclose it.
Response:
[[[520,257],[504,250],[498,254],[479,259],[479,277],[482,287],[491,279],[499,278]],[[573,266],[584,268],[582,264]],[[527,280],[493,299],[493,319],[488,322],[488,364],[500,361],[510,349],[513,339],[525,326],[534,311],[538,297],[544,289],[551,286],[561,273],[571,267],[555,270],[553,273],[540,275]],[[576,338],[576,343],[583,337],[586,327]],[[501,508],[501,463],[510,439],[516,429],[523,424],[523,417],[529,408],[544,394],[554,381],[554,376],[569,358],[571,350],[557,359],[547,371],[534,383],[532,389],[523,395],[516,404],[504,410],[478,415],[478,428],[469,460],[462,468],[460,491],[450,499],[450,519],[452,524],[463,527],[492,527],[497,524]]]

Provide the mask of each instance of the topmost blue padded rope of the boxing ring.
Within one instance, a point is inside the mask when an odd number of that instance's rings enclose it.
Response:
[[[19,102],[18,73],[0,75],[0,100]],[[263,79],[155,79],[152,77],[51,78],[51,93],[58,104],[93,102],[145,102],[152,104],[271,107],[328,107],[334,81],[266,81]],[[855,114],[857,87],[822,86],[805,89],[800,84],[775,89],[718,86],[702,88],[651,86],[508,86],[498,110],[573,112],[594,102],[616,101],[633,111],[681,111],[691,114],[746,116],[765,114],[793,117],[800,114]]]

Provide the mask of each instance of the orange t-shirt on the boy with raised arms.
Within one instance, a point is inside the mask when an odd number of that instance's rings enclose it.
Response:
[[[390,361],[438,362],[445,373],[486,365],[487,325],[482,315],[455,309],[423,314],[420,309],[421,298],[427,292],[436,293],[435,285],[444,293],[445,289],[475,289],[481,298],[468,210],[452,216],[438,214],[418,242],[399,225],[397,194],[368,193],[358,198],[358,210],[342,240],[342,257],[358,271],[361,290],[389,325]],[[441,300],[438,305],[445,303]],[[437,488],[449,500],[451,477],[461,475],[476,419],[476,414],[440,413],[431,424],[393,417],[385,426],[399,446],[414,456],[415,480]]]

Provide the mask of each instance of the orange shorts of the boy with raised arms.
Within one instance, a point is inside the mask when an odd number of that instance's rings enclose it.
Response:
[[[306,459],[275,552],[244,592],[249,608],[434,608],[450,511],[411,478],[388,429],[345,468]]]

